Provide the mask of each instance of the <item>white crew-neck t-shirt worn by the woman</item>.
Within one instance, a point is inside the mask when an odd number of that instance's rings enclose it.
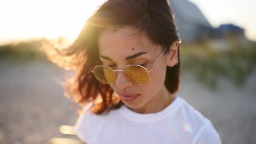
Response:
[[[87,144],[221,144],[212,123],[179,96],[153,114],[139,114],[125,105],[107,115],[84,110],[75,131]]]

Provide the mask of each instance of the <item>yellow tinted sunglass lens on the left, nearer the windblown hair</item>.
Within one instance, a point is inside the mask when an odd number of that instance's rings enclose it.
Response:
[[[94,76],[104,84],[114,83],[116,80],[115,72],[106,66],[98,66],[93,69]]]

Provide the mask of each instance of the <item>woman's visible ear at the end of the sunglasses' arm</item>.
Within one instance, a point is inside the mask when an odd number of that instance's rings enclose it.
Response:
[[[172,45],[169,48],[169,53],[167,56],[167,65],[169,67],[173,67],[176,64],[178,64],[178,47],[179,47],[179,41],[175,41],[172,43]]]

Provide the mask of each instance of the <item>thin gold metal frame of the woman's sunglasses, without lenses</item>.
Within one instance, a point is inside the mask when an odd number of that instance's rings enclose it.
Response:
[[[145,69],[145,70],[147,71],[148,75],[149,75],[149,73],[152,71],[153,67],[155,66],[155,64],[157,63],[157,61],[160,59],[160,57],[163,55],[163,53],[165,52],[165,50],[166,50],[167,48],[168,48],[168,47],[166,47],[166,48],[163,50],[163,52],[160,54],[160,56],[157,58],[157,60],[155,61],[155,63],[153,64],[153,66],[152,66],[150,69],[147,69],[147,68],[145,68],[145,67],[143,67],[143,66],[141,66],[141,65],[138,65],[138,64],[128,64],[127,66],[125,66],[125,68],[128,67],[128,66],[139,66],[139,67],[142,67],[143,69]],[[94,74],[93,71],[94,71],[94,69],[95,69],[96,67],[108,67],[109,69],[112,69],[112,68],[109,67],[109,66],[98,65],[98,66],[95,66],[95,67],[93,68],[93,70],[91,71],[93,74]],[[117,80],[117,73],[116,73],[116,72],[122,72],[122,71],[125,70],[125,68],[122,69],[122,70],[114,70],[114,69],[112,69],[112,71],[115,72],[115,77],[116,77],[116,79],[115,79],[115,81],[114,81],[113,83],[115,83],[116,80]],[[125,75],[125,77],[126,77],[126,75]],[[129,80],[128,77],[126,77],[126,78],[127,78],[127,80]],[[150,75],[149,75],[149,80],[150,80]],[[148,80],[147,82],[149,82],[149,80]],[[131,80],[129,80],[129,81],[131,81]],[[131,82],[133,82],[133,81],[131,81]],[[101,82],[101,83],[102,83],[102,82]],[[133,83],[135,83],[135,82],[133,82]],[[109,83],[109,84],[112,84],[112,83]],[[143,83],[143,84],[135,83],[135,84],[137,84],[137,85],[145,85],[145,84],[147,84],[147,83]]]

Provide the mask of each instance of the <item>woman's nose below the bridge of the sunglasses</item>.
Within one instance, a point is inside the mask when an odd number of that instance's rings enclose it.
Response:
[[[125,73],[123,71],[117,72],[117,80],[115,82],[117,88],[123,89],[125,87],[131,86],[132,84],[133,83],[126,78]]]

